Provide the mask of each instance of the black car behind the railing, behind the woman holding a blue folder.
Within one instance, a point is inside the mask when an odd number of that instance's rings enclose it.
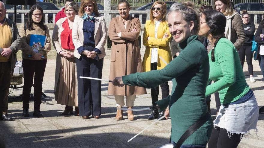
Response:
[[[43,10],[60,10],[55,4],[48,2],[36,2],[37,5],[41,6]],[[29,10],[31,6],[29,5],[17,5],[16,10]],[[11,8],[10,10],[14,10],[15,8]],[[14,13],[8,13],[8,18],[13,20]],[[27,21],[28,15],[25,13],[24,23]],[[45,15],[43,16],[45,23]],[[21,23],[21,13],[16,13],[16,23]],[[53,13],[48,13],[48,23],[53,23]]]

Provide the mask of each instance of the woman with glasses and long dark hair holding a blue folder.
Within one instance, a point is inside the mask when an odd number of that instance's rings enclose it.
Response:
[[[28,14],[26,24],[20,25],[22,66],[24,71],[24,86],[22,92],[23,117],[29,117],[29,98],[34,77],[34,111],[33,115],[41,118],[40,112],[42,83],[47,63],[47,53],[51,49],[49,28],[44,25],[43,10],[39,5],[33,5]],[[46,36],[43,47],[37,48],[39,44],[30,46],[31,35]],[[36,50],[37,49],[37,50]]]

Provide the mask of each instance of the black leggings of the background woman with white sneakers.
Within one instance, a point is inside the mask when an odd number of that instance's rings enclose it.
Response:
[[[240,58],[240,62],[242,65],[242,68],[244,67],[245,57],[247,59],[247,67],[249,75],[253,75],[253,65],[252,65],[252,58],[253,53],[251,51],[252,45],[243,45],[241,48],[239,48],[238,54]]]

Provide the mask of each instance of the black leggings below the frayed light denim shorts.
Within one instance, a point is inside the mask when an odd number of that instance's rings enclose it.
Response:
[[[232,134],[229,138],[226,129],[213,128],[208,148],[236,148],[242,137],[241,134]]]

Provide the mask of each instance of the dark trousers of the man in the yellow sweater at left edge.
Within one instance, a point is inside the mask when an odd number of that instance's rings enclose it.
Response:
[[[7,93],[10,86],[10,78],[13,74],[10,70],[9,62],[0,62],[0,115],[7,112],[8,100]]]

